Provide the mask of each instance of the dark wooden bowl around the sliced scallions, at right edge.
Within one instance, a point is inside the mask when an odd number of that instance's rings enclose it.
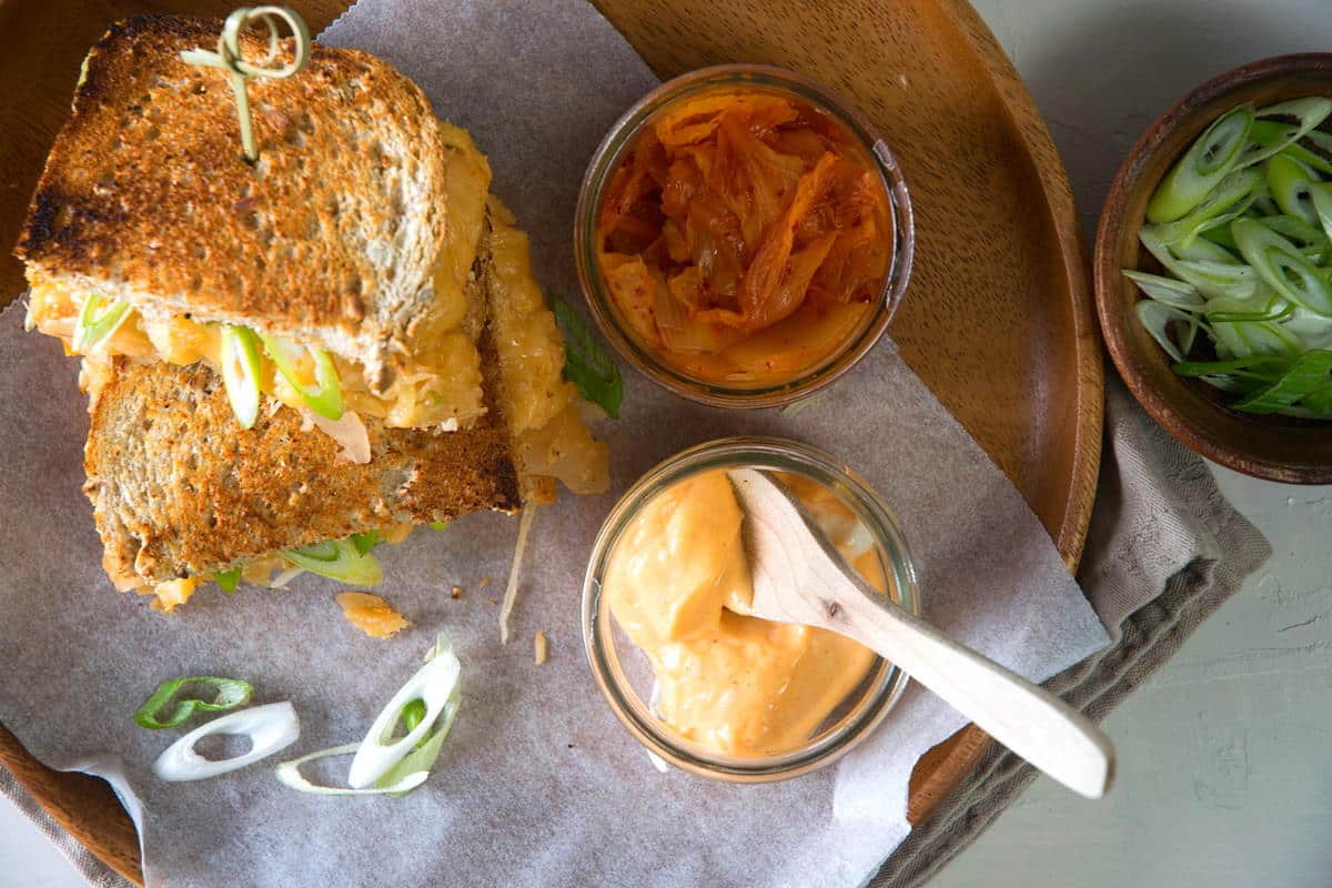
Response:
[[[1095,290],[1100,326],[1119,374],[1156,422],[1209,459],[1255,478],[1297,485],[1332,483],[1332,422],[1243,414],[1229,395],[1184,379],[1138,322],[1140,298],[1122,269],[1156,270],[1139,244],[1147,201],[1169,165],[1220,114],[1299,96],[1332,96],[1332,53],[1255,61],[1205,84],[1167,111],[1143,134],[1110,186],[1096,232]]]

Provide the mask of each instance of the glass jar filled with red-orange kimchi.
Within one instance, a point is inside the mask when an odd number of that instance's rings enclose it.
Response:
[[[671,80],[606,134],[574,222],[606,338],[694,401],[770,407],[846,373],[911,273],[896,158],[831,91],[781,68]]]

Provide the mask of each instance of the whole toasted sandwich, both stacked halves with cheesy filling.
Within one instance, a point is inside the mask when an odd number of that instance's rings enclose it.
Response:
[[[209,579],[369,586],[369,549],[416,525],[605,490],[470,136],[385,63],[316,45],[301,75],[252,83],[252,166],[225,81],[178,59],[217,28],[133,19],[93,48],[17,248],[29,325],[83,354],[116,587],[169,611]],[[261,346],[248,411],[237,330]]]

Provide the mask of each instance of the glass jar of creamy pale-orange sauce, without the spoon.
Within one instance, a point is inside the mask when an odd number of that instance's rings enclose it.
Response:
[[[782,780],[868,736],[907,676],[834,632],[746,615],[730,469],[771,473],[854,570],[919,614],[906,541],[850,469],[791,441],[729,438],[671,457],[611,510],[583,582],[583,643],[611,710],[650,752],[707,777]]]

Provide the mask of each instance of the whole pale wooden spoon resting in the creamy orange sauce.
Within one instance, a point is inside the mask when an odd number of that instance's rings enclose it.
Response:
[[[1115,748],[1091,720],[880,595],[846,564],[801,502],[767,475],[753,469],[727,474],[745,510],[751,615],[855,639],[1070,789],[1088,799],[1106,793]]]

